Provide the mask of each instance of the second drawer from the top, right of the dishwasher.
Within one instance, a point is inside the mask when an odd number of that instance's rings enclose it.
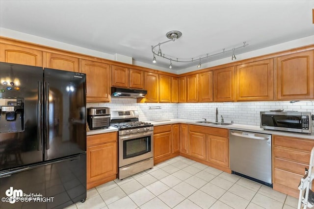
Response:
[[[273,150],[274,158],[283,158],[305,164],[310,163],[311,153],[305,153],[280,147],[274,147]]]

